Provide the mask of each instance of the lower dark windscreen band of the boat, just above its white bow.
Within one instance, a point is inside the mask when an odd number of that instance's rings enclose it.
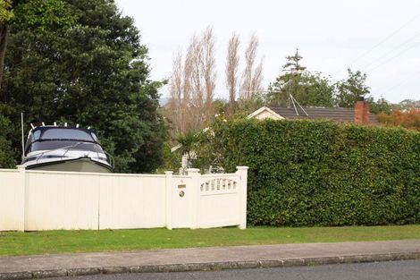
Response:
[[[86,150],[98,153],[104,153],[102,147],[96,143],[89,142],[79,142],[71,140],[46,140],[46,141],[37,141],[33,142],[29,148],[28,152],[33,152],[37,150],[52,150],[58,148],[72,149],[72,150]]]

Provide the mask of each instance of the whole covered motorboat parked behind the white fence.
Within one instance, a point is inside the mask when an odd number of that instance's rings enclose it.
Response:
[[[113,172],[113,157],[102,148],[90,128],[32,126],[21,165],[30,170]]]

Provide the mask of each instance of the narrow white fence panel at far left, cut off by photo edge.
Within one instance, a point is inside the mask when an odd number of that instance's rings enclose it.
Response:
[[[18,170],[0,169],[0,230],[23,229],[24,190]]]

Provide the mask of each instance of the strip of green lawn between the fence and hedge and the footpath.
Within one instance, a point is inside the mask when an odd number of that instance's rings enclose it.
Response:
[[[0,256],[403,239],[420,239],[420,225],[0,232]]]

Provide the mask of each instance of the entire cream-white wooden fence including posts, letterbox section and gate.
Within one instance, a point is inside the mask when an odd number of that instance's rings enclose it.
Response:
[[[0,169],[0,231],[247,226],[248,167],[185,176]]]

